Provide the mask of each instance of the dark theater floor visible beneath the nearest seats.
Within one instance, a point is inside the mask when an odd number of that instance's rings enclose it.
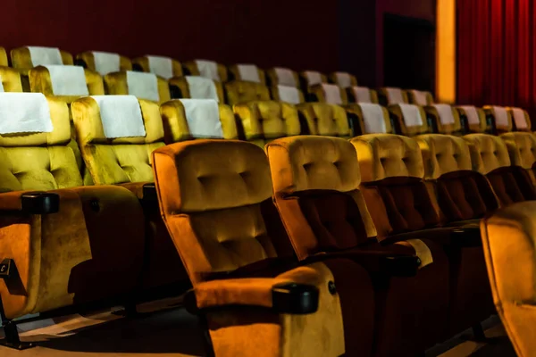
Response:
[[[177,307],[178,303],[177,299],[167,299],[138,306],[143,313],[136,319],[104,311],[21,324],[21,339],[38,341],[38,347],[20,352],[0,346],[0,356],[202,356],[197,320]],[[435,346],[426,357],[515,357],[497,316],[486,320],[483,326],[488,337],[486,342],[471,341],[468,330]]]

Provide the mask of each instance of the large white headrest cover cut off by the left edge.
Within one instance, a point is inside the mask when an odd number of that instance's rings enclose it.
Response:
[[[50,109],[41,93],[0,94],[0,134],[50,133]]]

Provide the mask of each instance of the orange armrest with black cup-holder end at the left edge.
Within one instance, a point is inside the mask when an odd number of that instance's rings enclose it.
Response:
[[[60,210],[60,196],[49,192],[5,192],[0,194],[0,211],[48,214]]]

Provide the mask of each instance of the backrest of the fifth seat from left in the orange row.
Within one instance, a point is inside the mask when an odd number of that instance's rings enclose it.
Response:
[[[527,171],[511,165],[505,141],[487,134],[469,134],[464,139],[469,143],[473,170],[488,178],[501,206],[536,199]]]

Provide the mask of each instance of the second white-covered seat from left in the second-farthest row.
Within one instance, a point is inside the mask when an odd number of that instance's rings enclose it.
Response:
[[[154,73],[121,71],[108,73],[104,79],[107,95],[134,95],[159,104],[172,99],[167,81]]]

